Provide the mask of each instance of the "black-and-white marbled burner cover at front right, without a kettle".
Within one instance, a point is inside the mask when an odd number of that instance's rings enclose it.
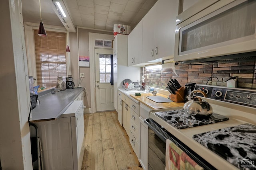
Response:
[[[256,126],[236,125],[193,135],[193,139],[240,169],[256,169]]]

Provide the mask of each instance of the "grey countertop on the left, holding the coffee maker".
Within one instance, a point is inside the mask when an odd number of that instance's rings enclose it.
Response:
[[[51,90],[38,94],[39,105],[31,111],[30,122],[55,120],[72,104],[84,88],[67,89],[51,94]]]

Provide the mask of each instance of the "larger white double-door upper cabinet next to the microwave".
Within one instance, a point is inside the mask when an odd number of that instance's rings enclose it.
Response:
[[[160,63],[174,57],[178,0],[158,0],[142,19],[142,63]]]

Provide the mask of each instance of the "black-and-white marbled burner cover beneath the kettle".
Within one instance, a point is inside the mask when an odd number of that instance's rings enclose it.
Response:
[[[177,129],[208,125],[228,120],[228,117],[217,113],[212,113],[212,115],[208,116],[193,116],[185,113],[184,109],[158,111],[155,115]]]

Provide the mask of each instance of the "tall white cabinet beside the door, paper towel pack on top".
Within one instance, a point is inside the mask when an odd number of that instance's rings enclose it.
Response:
[[[126,78],[140,80],[140,68],[127,66],[128,35],[118,34],[113,42],[113,81],[114,81],[114,107],[118,111],[118,88],[122,88]]]

